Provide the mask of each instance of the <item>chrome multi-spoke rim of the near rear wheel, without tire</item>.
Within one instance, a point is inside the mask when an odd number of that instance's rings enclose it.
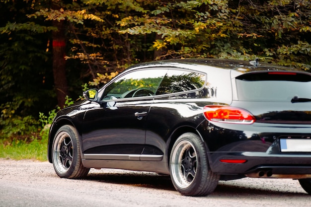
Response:
[[[172,151],[171,172],[175,184],[181,188],[188,188],[196,176],[197,153],[190,141],[180,141]]]

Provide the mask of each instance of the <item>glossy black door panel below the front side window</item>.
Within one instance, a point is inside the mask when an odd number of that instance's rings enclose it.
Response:
[[[116,100],[98,103],[83,120],[84,154],[141,154],[145,144],[145,122],[152,103],[146,100]],[[146,112],[142,119],[135,113]]]

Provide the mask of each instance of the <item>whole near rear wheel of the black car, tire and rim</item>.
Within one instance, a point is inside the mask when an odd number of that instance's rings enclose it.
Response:
[[[220,179],[209,167],[203,140],[193,133],[177,138],[171,150],[169,166],[172,183],[184,196],[207,196],[214,192]]]

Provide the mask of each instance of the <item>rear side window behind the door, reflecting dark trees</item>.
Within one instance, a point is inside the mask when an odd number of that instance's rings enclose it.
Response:
[[[205,74],[170,69],[160,83],[156,95],[195,90],[203,87],[205,80]]]

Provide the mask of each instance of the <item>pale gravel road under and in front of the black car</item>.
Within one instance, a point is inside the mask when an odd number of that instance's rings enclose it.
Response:
[[[91,169],[85,179],[61,179],[48,162],[0,159],[0,207],[311,207],[291,179],[221,181],[207,197],[185,197],[169,177]]]

